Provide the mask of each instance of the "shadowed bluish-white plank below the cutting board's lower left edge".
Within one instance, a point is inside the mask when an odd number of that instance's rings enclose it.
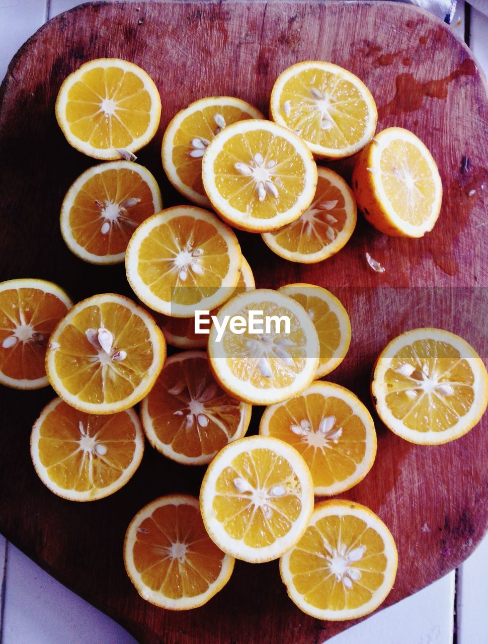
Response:
[[[12,544],[6,580],[2,644],[137,644]]]

